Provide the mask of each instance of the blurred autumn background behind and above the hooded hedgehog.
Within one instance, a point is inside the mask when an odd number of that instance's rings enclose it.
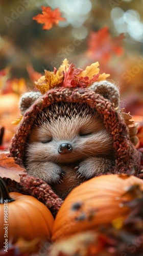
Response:
[[[41,6],[59,8],[66,20],[43,30],[33,20]],[[143,116],[142,8],[143,0],[1,0],[0,144],[3,137],[6,148],[15,130],[20,94],[64,58],[79,68],[99,61],[120,86],[121,106]]]

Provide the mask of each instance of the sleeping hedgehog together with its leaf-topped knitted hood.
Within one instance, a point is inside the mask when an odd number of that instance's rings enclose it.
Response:
[[[20,99],[23,118],[10,155],[62,199],[92,177],[138,173],[140,156],[118,107],[120,92],[98,66],[82,71],[65,59]]]

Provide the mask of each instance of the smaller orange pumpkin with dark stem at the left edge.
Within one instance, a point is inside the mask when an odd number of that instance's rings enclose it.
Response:
[[[30,241],[51,237],[54,218],[44,204],[31,196],[9,194],[2,178],[0,196],[0,248],[9,240],[15,243],[18,238]]]

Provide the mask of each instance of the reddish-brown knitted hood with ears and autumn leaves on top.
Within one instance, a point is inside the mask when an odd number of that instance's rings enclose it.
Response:
[[[36,83],[36,90],[24,94],[20,99],[23,115],[10,145],[10,156],[15,163],[23,166],[26,141],[34,121],[44,108],[55,102],[86,103],[102,117],[108,133],[113,138],[115,164],[110,173],[137,175],[140,155],[130,141],[129,130],[122,111],[118,107],[118,88],[106,80],[109,75],[99,74],[99,63],[93,63],[84,71],[75,69],[65,59],[58,70],[45,71]],[[36,197],[51,209],[55,215],[62,200],[53,192],[50,185],[30,175],[21,176],[21,182],[8,183],[11,191],[19,191]]]

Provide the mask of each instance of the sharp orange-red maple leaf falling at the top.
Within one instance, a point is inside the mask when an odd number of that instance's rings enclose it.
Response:
[[[51,29],[53,27],[53,24],[58,25],[59,20],[65,20],[65,18],[61,17],[61,13],[58,8],[56,8],[53,11],[50,7],[41,6],[41,8],[42,14],[34,16],[33,19],[37,20],[37,22],[40,24],[44,23],[42,29]]]

